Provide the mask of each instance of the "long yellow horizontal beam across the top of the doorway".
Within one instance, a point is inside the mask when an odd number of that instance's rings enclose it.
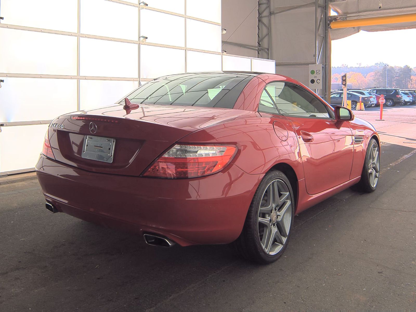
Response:
[[[395,24],[395,23],[404,23],[404,22],[416,22],[416,13],[383,16],[383,17],[359,18],[356,20],[338,20],[338,21],[331,22],[330,27],[332,29],[337,29],[337,28],[347,28],[347,27]]]

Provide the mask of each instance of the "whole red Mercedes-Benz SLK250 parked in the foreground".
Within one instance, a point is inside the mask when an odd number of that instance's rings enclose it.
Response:
[[[268,263],[297,213],[357,183],[375,190],[379,150],[371,124],[294,79],[192,73],[54,119],[36,171],[54,213]]]

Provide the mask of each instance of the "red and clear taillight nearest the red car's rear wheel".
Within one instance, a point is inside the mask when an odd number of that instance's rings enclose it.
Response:
[[[227,166],[235,151],[235,146],[177,144],[156,160],[143,176],[168,179],[207,176]]]

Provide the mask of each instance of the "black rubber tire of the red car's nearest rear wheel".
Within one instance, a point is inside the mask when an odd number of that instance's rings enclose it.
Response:
[[[291,207],[287,208],[288,209],[287,211],[291,209],[291,220],[290,220],[289,230],[287,230],[287,236],[286,236],[285,242],[283,244],[280,244],[282,245],[282,247],[276,254],[269,255],[263,249],[261,242],[260,242],[261,234],[259,233],[258,217],[259,217],[260,204],[264,203],[262,202],[262,200],[264,199],[263,196],[266,194],[266,189],[274,181],[280,181],[279,183],[283,182],[287,187],[287,190],[290,195],[290,197],[288,196],[287,198],[290,198],[290,201],[291,201]],[[283,214],[283,216],[284,215],[285,214]],[[272,219],[271,217],[272,215],[270,215],[270,220]],[[278,258],[280,258],[280,256],[285,252],[287,248],[290,236],[292,234],[294,217],[295,217],[295,201],[294,201],[292,186],[290,185],[289,180],[287,179],[285,174],[282,173],[281,171],[269,171],[268,173],[266,173],[266,175],[260,182],[260,185],[258,186],[254,194],[253,200],[250,204],[250,208],[248,209],[248,213],[245,218],[243,230],[240,236],[237,238],[237,240],[235,240],[232,243],[232,247],[238,253],[238,255],[242,256],[243,258],[247,260],[257,262],[260,264],[269,264],[269,263],[275,262]],[[272,243],[271,245],[274,246],[275,243]]]

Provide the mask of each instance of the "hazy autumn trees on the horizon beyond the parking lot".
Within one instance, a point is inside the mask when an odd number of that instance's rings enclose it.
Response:
[[[348,67],[347,65],[332,67],[331,82],[340,83],[341,76],[345,73],[348,83],[352,84],[353,88],[388,86],[399,89],[416,89],[416,67],[411,68],[407,65],[393,67],[385,63],[376,63],[366,67]]]

